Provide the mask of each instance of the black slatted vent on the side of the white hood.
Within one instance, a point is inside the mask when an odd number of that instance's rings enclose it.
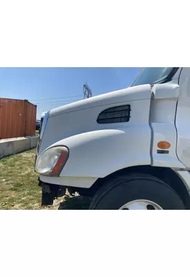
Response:
[[[123,105],[112,107],[109,109],[104,109],[104,111],[102,111],[99,114],[97,118],[97,123],[106,124],[128,122],[130,118],[130,111],[130,105]]]

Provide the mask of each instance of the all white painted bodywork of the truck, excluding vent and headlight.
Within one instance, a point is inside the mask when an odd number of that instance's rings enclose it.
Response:
[[[126,104],[128,123],[97,123],[104,109]],[[167,154],[158,152],[159,141],[171,144]],[[60,177],[40,177],[50,184],[89,188],[122,168],[151,165],[172,168],[189,188],[189,172],[180,170],[190,168],[190,69],[152,88],[143,84],[51,110],[39,154],[55,145],[68,147],[69,158]]]

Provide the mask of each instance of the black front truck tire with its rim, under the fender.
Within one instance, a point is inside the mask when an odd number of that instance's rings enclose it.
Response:
[[[99,188],[90,210],[184,210],[177,193],[160,179],[146,174],[121,175]]]

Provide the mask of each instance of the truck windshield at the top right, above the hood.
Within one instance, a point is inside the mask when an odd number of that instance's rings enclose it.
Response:
[[[177,69],[177,67],[143,67],[131,87],[167,82],[171,80]]]

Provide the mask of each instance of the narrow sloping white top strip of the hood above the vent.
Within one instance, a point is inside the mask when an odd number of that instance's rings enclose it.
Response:
[[[150,84],[143,84],[137,87],[129,87],[119,91],[108,92],[99,96],[94,96],[85,100],[80,100],[62,107],[52,109],[49,117],[59,116],[60,114],[67,114],[72,111],[79,111],[82,109],[89,109],[99,107],[102,105],[111,105],[115,103],[122,103],[134,100],[143,100],[151,98]]]

